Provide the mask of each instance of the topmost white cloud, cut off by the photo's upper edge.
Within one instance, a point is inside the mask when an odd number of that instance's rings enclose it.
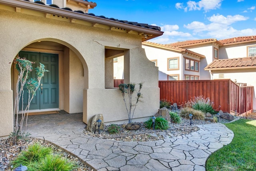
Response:
[[[176,3],[175,7],[177,9],[184,9],[186,12],[187,10],[201,10],[203,9],[205,12],[208,12],[210,10],[215,10],[217,8],[220,8],[221,2],[223,0],[200,0],[198,2],[189,0],[187,2],[187,6],[185,7],[183,3]]]

